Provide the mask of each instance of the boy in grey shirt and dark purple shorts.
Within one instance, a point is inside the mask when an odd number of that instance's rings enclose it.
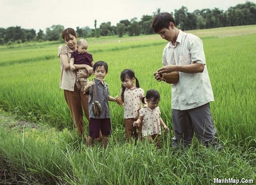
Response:
[[[108,146],[108,136],[111,135],[111,115],[108,101],[116,101],[118,95],[111,97],[108,91],[108,84],[104,78],[108,74],[108,64],[98,61],[93,65],[95,78],[84,87],[84,92],[89,91],[89,137],[87,144],[93,145],[94,139],[99,137],[99,131],[102,133],[102,145]],[[101,114],[99,117],[93,114],[93,102],[98,101],[101,105]]]

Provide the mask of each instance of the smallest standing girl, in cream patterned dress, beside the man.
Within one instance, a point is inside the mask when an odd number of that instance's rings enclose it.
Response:
[[[146,100],[146,102],[145,102]],[[169,131],[169,128],[163,122],[163,119],[160,117],[160,109],[158,107],[158,103],[160,101],[160,94],[157,90],[151,89],[146,93],[146,97],[142,99],[143,104],[145,106],[140,109],[139,114],[140,117],[137,121],[134,122],[134,126],[141,125],[142,123],[142,135],[143,137],[147,137],[149,142],[153,140],[157,143],[157,148],[161,148],[161,128],[160,125],[163,126],[165,131]]]

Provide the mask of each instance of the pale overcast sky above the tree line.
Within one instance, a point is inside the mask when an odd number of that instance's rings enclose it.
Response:
[[[246,0],[1,0],[0,28],[20,26],[25,29],[45,31],[52,25],[76,29],[89,26],[97,28],[104,22],[116,26],[120,20],[131,20],[152,15],[158,8],[174,12],[185,6],[189,12],[196,9],[226,11]],[[256,3],[256,0],[250,0]]]

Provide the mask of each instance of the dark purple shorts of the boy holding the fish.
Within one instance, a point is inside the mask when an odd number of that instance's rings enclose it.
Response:
[[[99,137],[99,130],[103,136],[111,135],[111,119],[90,118],[89,121],[89,136],[93,139]]]

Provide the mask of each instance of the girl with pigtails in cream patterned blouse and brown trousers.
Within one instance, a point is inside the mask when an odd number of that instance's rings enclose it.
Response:
[[[124,102],[125,134],[129,142],[130,137],[136,140],[141,137],[142,125],[133,126],[133,123],[139,117],[138,110],[142,108],[141,98],[144,97],[144,90],[140,88],[139,80],[131,69],[123,70],[120,79],[122,81],[121,100]]]

